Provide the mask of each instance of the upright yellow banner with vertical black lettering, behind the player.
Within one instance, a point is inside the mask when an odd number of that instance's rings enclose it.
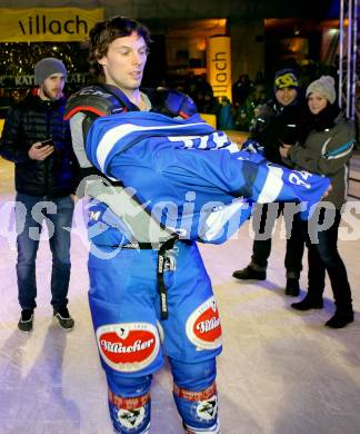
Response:
[[[231,49],[230,37],[217,36],[208,40],[208,81],[216,97],[231,101]]]

